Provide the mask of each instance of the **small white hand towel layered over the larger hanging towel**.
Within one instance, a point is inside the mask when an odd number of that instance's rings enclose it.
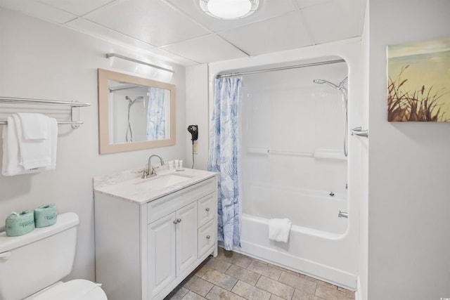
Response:
[[[42,114],[18,112],[25,140],[45,140],[49,135],[49,117]]]

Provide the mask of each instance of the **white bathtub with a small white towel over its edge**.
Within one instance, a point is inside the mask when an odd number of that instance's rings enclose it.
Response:
[[[352,216],[352,211],[348,211],[348,219],[338,217],[340,210],[348,210],[347,195],[330,196],[328,191],[307,190],[281,192],[268,185],[256,190],[261,195],[253,193],[250,201],[253,214],[246,213],[248,206],[243,207],[241,248],[236,251],[355,290],[358,232],[353,229],[357,228],[353,222],[356,214]],[[276,201],[267,201],[274,199],[271,193],[278,195]],[[288,243],[269,240],[270,217],[293,221]]]

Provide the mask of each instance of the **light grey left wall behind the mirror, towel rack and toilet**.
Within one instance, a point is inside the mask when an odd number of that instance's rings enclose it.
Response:
[[[175,70],[172,79],[160,77],[158,72],[148,77],[176,84],[176,145],[98,154],[96,70],[100,67],[132,73],[136,68],[135,64],[118,60],[115,63],[120,63],[119,68],[110,65],[111,60],[105,58],[105,53],[114,51],[145,58],[101,39],[0,9],[0,96],[91,103],[90,107],[80,109],[84,124],[79,129],[59,125],[56,170],[11,177],[0,175],[0,230],[4,229],[4,220],[11,211],[33,209],[44,203],[56,203],[59,212],[75,211],[79,215],[77,256],[70,278],[94,280],[92,178],[144,167],[148,156],[155,153],[165,160],[186,160],[185,69],[177,65],[172,65]],[[154,63],[161,62],[156,60]],[[0,112],[2,110],[0,107]],[[48,108],[42,107],[42,112],[46,110]]]

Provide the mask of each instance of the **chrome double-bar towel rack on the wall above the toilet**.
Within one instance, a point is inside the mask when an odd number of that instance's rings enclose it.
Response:
[[[15,98],[15,97],[0,97],[0,103],[6,104],[23,104],[23,105],[58,105],[70,107],[70,121],[58,121],[58,124],[71,124],[73,129],[77,129],[83,122],[79,121],[79,111],[75,110],[78,107],[90,106],[89,103],[79,103],[77,101],[56,101],[45,99],[32,98]],[[0,125],[8,124],[7,121],[0,121]]]

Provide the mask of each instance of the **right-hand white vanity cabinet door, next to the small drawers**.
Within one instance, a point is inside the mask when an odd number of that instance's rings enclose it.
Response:
[[[176,211],[176,275],[197,260],[197,202]]]

